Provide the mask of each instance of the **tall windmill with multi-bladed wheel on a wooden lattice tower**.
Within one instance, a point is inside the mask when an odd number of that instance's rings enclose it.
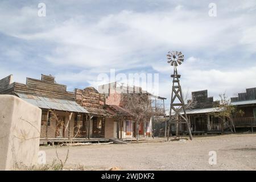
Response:
[[[178,75],[177,73],[177,66],[183,63],[184,55],[178,51],[171,51],[171,52],[168,52],[167,59],[168,59],[167,63],[170,63],[171,66],[174,66],[174,74],[171,75],[171,77],[173,78],[172,97],[171,97],[171,106],[170,106],[170,119],[168,121],[167,139],[169,139],[171,123],[175,123],[175,124],[177,123],[178,126],[180,123],[185,123],[187,125],[189,138],[192,140],[190,125],[188,123],[188,116],[185,110],[185,102],[183,100],[183,94],[180,86],[180,80],[179,80],[180,75]],[[175,102],[176,99],[177,99],[177,102]],[[173,116],[172,116],[172,111],[174,111]]]

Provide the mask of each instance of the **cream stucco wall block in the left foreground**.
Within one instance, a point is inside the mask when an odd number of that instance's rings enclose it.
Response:
[[[42,111],[11,95],[0,95],[0,170],[36,164]]]

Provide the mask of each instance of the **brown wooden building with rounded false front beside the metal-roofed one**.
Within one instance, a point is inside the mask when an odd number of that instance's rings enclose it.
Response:
[[[130,121],[132,114],[118,105],[107,105],[105,94],[93,87],[75,89],[76,101],[88,110],[88,117],[82,117],[80,125],[81,138],[125,138],[119,132],[118,118]],[[122,137],[123,136],[123,137]]]

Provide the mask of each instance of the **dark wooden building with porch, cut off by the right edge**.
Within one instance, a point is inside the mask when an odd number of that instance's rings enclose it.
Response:
[[[238,97],[231,98],[231,104],[243,111],[243,115],[234,117],[234,125],[237,128],[256,127],[256,88],[246,89],[245,93],[238,93]]]

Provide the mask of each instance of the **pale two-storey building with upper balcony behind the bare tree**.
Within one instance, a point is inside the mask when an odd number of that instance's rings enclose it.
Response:
[[[106,105],[110,106],[114,110],[122,111],[124,115],[127,115],[126,118],[120,119],[115,117],[115,126],[114,130],[117,130],[118,138],[135,138],[137,125],[133,118],[133,114],[126,108],[125,94],[136,94],[143,93],[147,98],[152,99],[152,110],[155,110],[155,113],[158,115],[165,115],[164,112],[164,100],[166,98],[153,96],[152,94],[142,90],[138,86],[123,86],[123,84],[118,84],[117,82],[112,82],[105,85],[98,86],[98,90],[105,96]],[[161,107],[156,106],[157,101],[162,101]],[[156,109],[158,110],[156,112]],[[139,123],[139,135],[140,137],[151,137],[152,130],[154,130],[154,125],[152,125],[152,119],[148,118],[148,121]],[[153,128],[152,128],[153,127]]]

